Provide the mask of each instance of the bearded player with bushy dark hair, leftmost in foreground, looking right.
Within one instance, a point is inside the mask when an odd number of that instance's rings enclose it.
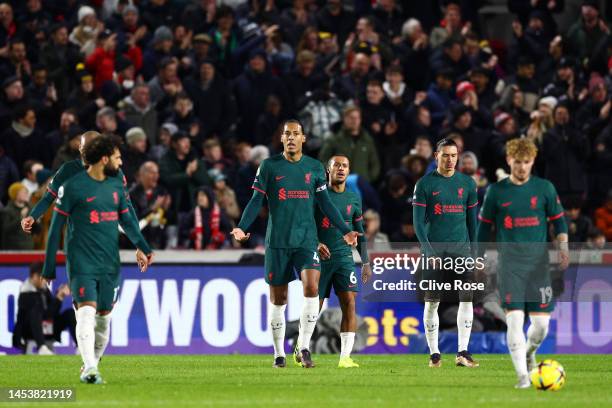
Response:
[[[83,359],[81,382],[102,383],[98,362],[109,339],[110,314],[120,286],[119,220],[136,245],[142,272],[153,253],[140,229],[126,222],[129,215],[124,186],[116,176],[121,166],[120,142],[99,136],[85,145],[87,171],[73,176],[57,191],[51,219],[43,278],[55,279],[55,256],[61,232],[68,222],[67,269],[76,311],[76,334]]]

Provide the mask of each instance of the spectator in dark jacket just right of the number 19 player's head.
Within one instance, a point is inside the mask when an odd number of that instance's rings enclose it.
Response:
[[[544,135],[542,146],[545,177],[555,185],[561,199],[582,196],[586,189],[586,160],[591,150],[589,141],[572,126],[566,104],[558,104],[553,116],[555,126]]]

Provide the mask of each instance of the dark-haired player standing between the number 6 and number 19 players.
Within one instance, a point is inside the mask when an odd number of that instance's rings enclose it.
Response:
[[[472,243],[476,241],[478,223],[476,183],[471,177],[456,171],[458,149],[454,141],[439,141],[434,155],[437,169],[417,182],[412,200],[415,232],[421,243],[421,251],[425,259],[471,257],[475,250]],[[424,280],[441,282],[460,279],[469,282],[472,279],[472,271],[458,274],[436,264],[441,262],[434,261],[431,267],[427,265],[422,268]],[[455,364],[478,367],[468,351],[474,318],[472,292],[461,290],[458,295],[458,353]],[[438,349],[440,300],[439,291],[425,292],[423,323],[430,350],[430,367],[440,367],[442,363]]]

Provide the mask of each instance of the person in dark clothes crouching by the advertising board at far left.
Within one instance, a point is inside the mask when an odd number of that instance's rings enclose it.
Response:
[[[68,285],[57,288],[55,296],[42,278],[42,264],[30,265],[28,279],[19,289],[19,312],[13,330],[13,346],[26,354],[33,352],[31,341],[40,355],[51,355],[53,343],[61,341],[61,334],[68,329],[76,344],[76,318],[71,307],[62,311],[62,302],[70,295]]]

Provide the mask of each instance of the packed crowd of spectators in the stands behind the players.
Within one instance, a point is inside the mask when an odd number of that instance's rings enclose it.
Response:
[[[219,4],[222,3],[222,4]],[[297,117],[306,153],[345,154],[372,242],[416,242],[411,196],[452,138],[459,170],[507,175],[533,139],[570,240],[612,239],[612,7],[508,0],[509,41],[483,37],[485,1],[26,0],[0,3],[0,248],[44,248],[19,221],[85,130],[123,138],[123,171],[155,248],[235,247],[259,163]],[[608,16],[606,17],[606,14]],[[249,245],[261,245],[266,213]],[[126,242],[126,245],[127,244]]]

